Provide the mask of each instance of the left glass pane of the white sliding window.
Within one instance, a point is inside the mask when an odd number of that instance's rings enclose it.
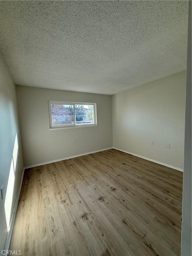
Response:
[[[52,125],[74,124],[73,105],[51,104]]]

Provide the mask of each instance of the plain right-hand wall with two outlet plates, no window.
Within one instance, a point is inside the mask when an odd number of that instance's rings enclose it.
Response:
[[[185,88],[182,71],[113,95],[113,146],[183,169]]]

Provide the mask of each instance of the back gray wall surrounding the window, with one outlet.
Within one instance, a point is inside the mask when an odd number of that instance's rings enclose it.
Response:
[[[25,166],[113,146],[111,96],[27,86],[16,93]],[[48,101],[96,103],[98,126],[50,131]]]

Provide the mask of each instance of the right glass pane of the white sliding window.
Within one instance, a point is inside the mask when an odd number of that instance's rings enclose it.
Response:
[[[76,125],[94,124],[94,105],[75,105]]]

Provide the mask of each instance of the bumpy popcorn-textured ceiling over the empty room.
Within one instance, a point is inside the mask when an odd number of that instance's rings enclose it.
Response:
[[[186,69],[188,1],[0,1],[17,85],[115,94]]]

